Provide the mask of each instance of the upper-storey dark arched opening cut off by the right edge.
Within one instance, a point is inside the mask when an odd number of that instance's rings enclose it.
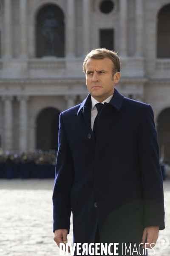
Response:
[[[158,14],[157,58],[170,58],[170,4]]]

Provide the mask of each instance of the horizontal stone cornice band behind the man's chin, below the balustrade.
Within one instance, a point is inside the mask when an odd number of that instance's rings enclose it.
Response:
[[[126,89],[128,86],[136,86],[136,89],[144,85],[167,85],[170,79],[127,78],[122,77],[115,87]],[[63,86],[63,87],[62,87]],[[43,89],[43,90],[41,90]],[[87,89],[85,78],[61,78],[61,79],[0,79],[1,95],[79,95]]]

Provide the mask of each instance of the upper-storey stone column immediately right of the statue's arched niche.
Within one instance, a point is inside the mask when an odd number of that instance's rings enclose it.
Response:
[[[75,6],[74,0],[67,0],[66,56],[74,58],[75,47]]]

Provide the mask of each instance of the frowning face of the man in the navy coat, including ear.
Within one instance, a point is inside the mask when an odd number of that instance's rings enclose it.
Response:
[[[91,96],[99,102],[114,93],[114,84],[119,82],[120,73],[112,75],[113,62],[109,58],[92,59],[86,63],[86,84]]]

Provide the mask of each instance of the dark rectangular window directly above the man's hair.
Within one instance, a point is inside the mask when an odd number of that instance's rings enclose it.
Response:
[[[100,48],[106,48],[114,51],[113,29],[100,29]]]

